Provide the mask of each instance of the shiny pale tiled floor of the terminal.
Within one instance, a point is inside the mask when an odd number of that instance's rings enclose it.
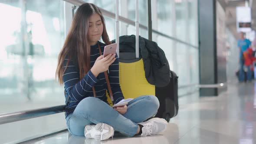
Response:
[[[115,134],[95,141],[67,132],[35,144],[256,144],[256,84],[228,85],[218,97],[179,99],[180,110],[165,132],[148,137]]]

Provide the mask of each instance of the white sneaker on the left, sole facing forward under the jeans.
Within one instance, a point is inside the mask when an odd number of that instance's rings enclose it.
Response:
[[[107,140],[113,137],[114,128],[108,124],[98,123],[96,125],[85,126],[85,138],[94,138],[99,141]]]

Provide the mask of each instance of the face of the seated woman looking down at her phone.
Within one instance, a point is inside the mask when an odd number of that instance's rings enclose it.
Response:
[[[89,19],[88,34],[89,34],[90,45],[95,44],[100,39],[100,37],[102,36],[102,32],[103,32],[102,19],[98,13],[94,13]]]

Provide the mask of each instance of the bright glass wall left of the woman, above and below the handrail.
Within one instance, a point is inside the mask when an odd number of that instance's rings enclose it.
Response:
[[[55,71],[65,39],[64,2],[0,0],[0,39],[0,114],[63,105],[63,86],[55,81]],[[0,143],[65,125],[63,113],[1,124]]]

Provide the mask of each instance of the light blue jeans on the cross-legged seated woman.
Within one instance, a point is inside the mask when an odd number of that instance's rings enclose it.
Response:
[[[143,95],[128,102],[127,112],[121,115],[99,98],[88,97],[79,102],[74,112],[66,118],[66,123],[69,132],[77,136],[84,136],[85,125],[102,122],[132,137],[137,133],[137,123],[156,115],[158,108],[156,96]]]

